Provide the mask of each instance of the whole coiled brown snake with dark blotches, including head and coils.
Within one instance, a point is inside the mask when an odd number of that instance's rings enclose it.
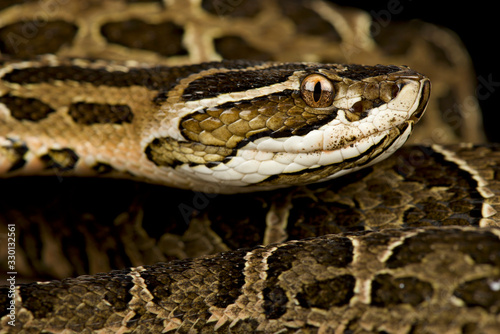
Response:
[[[27,246],[16,248],[19,270],[87,274],[0,286],[9,305],[1,333],[498,332],[500,146],[398,150],[427,106],[431,119],[443,111],[439,101],[453,95],[447,76],[330,62],[338,45],[321,58],[325,38],[332,45],[357,31],[349,28],[366,29],[365,13],[287,3],[1,8],[2,228],[15,226]],[[323,39],[311,38],[320,23]],[[273,49],[290,41],[290,27],[298,44]],[[359,36],[344,55],[376,55],[375,41]],[[466,131],[477,116],[462,123],[428,138],[481,138]],[[33,214],[31,196],[43,206],[61,193],[51,225],[42,225],[49,217]],[[65,216],[89,194],[105,212],[128,208],[104,216],[105,226],[94,225],[102,217],[93,209]],[[163,226],[177,219],[172,211],[181,218]],[[61,217],[70,226],[60,227]],[[30,229],[47,245],[29,239]],[[83,268],[71,263],[77,247],[64,245],[79,239],[54,238],[67,229],[89,236]],[[114,233],[123,251],[109,245]]]

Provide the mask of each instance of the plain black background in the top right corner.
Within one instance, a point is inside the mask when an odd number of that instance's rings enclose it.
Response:
[[[487,98],[479,99],[483,111],[486,134],[490,141],[500,142],[500,15],[494,2],[486,1],[416,1],[416,0],[383,0],[383,1],[332,1],[339,5],[357,7],[368,13],[387,10],[389,2],[398,1],[403,8],[399,14],[392,15],[394,21],[421,19],[454,31],[468,49],[476,77],[496,83],[494,90]],[[482,89],[482,88],[481,88]],[[488,91],[481,90],[484,96]]]

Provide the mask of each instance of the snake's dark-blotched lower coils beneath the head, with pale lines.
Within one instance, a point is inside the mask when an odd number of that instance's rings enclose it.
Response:
[[[193,239],[211,224],[225,241],[213,243],[214,253],[239,250],[23,285],[18,320],[26,332],[495,333],[499,161],[498,145],[408,147],[340,183],[220,195],[198,207],[184,233],[163,235],[185,243],[184,256],[196,255],[189,252],[201,250],[189,245],[207,245],[207,235]],[[227,205],[233,209],[224,213]],[[91,231],[85,223],[74,228]],[[136,252],[131,258],[165,251],[162,232],[143,223],[135,249],[126,230],[110,231],[121,234],[126,252]],[[224,234],[238,230],[237,237]],[[92,245],[103,245],[99,259],[109,241],[94,238]],[[1,291],[6,300],[8,287]]]

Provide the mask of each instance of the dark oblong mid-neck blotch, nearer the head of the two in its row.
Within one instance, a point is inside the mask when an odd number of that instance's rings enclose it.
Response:
[[[78,124],[122,124],[131,123],[132,110],[122,104],[98,104],[78,102],[70,105],[68,114]]]

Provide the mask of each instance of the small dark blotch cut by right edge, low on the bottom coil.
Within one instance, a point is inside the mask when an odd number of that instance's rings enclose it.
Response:
[[[500,313],[500,290],[493,289],[500,277],[481,278],[460,284],[453,295],[462,299],[469,307],[481,307],[487,312]]]

